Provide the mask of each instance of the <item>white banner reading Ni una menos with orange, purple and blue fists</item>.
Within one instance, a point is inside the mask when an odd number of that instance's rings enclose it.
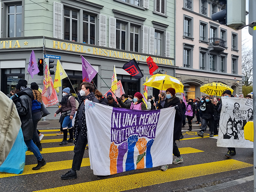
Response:
[[[93,173],[106,176],[172,164],[175,112],[174,107],[132,110],[86,100],[85,116]]]

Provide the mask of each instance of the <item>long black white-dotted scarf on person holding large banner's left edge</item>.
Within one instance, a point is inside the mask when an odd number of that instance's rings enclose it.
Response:
[[[89,101],[93,101],[94,98],[95,98],[95,96],[94,96],[93,92],[91,92],[87,96],[81,97],[81,102],[79,103],[78,110],[76,112],[75,123],[74,123],[74,144],[76,144],[76,142],[77,142],[78,133],[79,133],[79,130],[80,130],[79,126],[78,126],[78,116],[79,116],[79,111],[80,110],[83,110],[83,116],[82,116],[82,122],[83,122],[83,124],[82,124],[82,136],[83,136],[83,138],[87,138],[87,126],[86,126],[86,119],[85,119],[85,110],[84,110],[84,107],[80,108],[80,106],[82,105],[82,103],[84,103],[85,99],[88,99]]]

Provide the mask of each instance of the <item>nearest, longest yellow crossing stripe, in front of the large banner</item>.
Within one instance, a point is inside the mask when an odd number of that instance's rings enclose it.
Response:
[[[234,159],[176,167],[163,172],[161,170],[138,173],[109,179],[84,182],[52,189],[44,189],[37,192],[69,192],[69,191],[93,191],[93,192],[119,192],[165,182],[177,181],[192,177],[205,176],[230,170],[251,167],[253,165]],[[118,188],[117,188],[118,186]]]

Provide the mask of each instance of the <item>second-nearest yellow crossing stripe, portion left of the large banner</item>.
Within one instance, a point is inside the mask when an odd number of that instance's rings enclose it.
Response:
[[[39,170],[32,170],[32,167],[37,166],[37,164],[25,165],[24,171],[22,174],[17,175],[12,173],[0,173],[0,178],[27,175],[27,174],[33,174],[33,173],[50,172],[50,171],[57,171],[57,170],[63,170],[63,169],[71,169],[72,161],[73,160],[49,162],[49,163],[46,163],[45,166],[41,167]],[[81,167],[85,167],[85,166],[90,166],[89,158],[83,159]]]

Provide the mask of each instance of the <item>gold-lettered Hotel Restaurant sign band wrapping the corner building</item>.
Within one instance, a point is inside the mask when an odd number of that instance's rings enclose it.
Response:
[[[88,44],[74,44],[72,41],[62,42],[62,41],[54,41],[50,39],[45,39],[46,48],[52,48],[57,50],[65,50],[69,52],[81,53],[84,56],[87,54],[98,55],[109,58],[117,58],[117,59],[126,59],[136,61],[146,62],[149,56],[145,56],[139,53],[127,53],[118,50],[110,50],[105,48],[96,48],[93,46],[88,46]],[[14,48],[33,48],[33,47],[42,47],[43,39],[20,39],[20,40],[10,40],[10,41],[0,41],[0,50],[2,49],[14,49]],[[156,64],[162,65],[173,65],[172,59],[159,58],[151,56]]]

